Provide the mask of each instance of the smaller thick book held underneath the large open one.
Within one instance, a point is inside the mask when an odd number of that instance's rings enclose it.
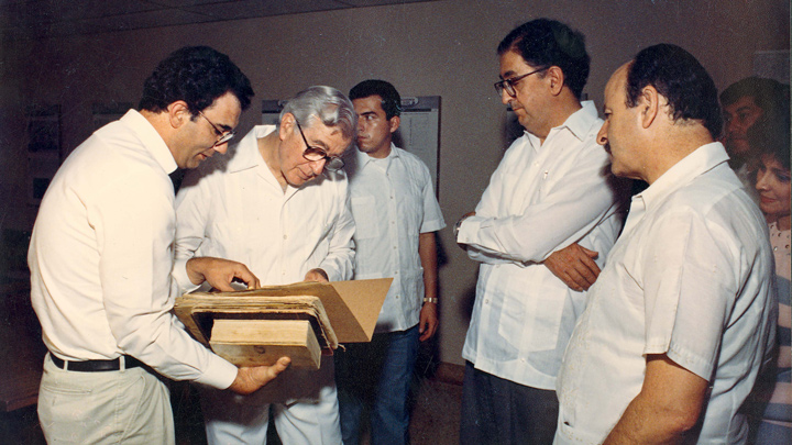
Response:
[[[319,369],[321,363],[321,347],[308,320],[218,319],[209,345],[238,366],[268,366],[284,356],[295,368]]]

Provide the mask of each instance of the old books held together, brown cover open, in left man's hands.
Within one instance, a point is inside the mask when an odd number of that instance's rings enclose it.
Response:
[[[299,282],[238,292],[194,292],[177,298],[174,312],[196,340],[238,366],[272,364],[286,355],[293,367],[316,369],[320,360],[314,359],[312,342],[320,354],[332,355],[340,343],[371,341],[392,281]],[[287,338],[288,346],[283,343]],[[272,358],[285,348],[288,354]]]

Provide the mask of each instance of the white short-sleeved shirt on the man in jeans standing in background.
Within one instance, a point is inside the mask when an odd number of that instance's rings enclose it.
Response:
[[[355,278],[394,278],[374,332],[413,327],[425,292],[418,237],[446,226],[429,169],[392,144],[382,159],[355,152],[346,171],[356,227]]]

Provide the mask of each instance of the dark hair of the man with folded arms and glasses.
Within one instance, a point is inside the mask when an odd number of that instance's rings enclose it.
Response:
[[[580,100],[591,63],[582,33],[556,20],[537,19],[517,26],[504,37],[497,53],[504,55],[509,51],[537,69],[561,68],[564,85]]]

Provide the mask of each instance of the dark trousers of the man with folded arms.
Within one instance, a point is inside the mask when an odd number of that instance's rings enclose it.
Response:
[[[552,444],[558,412],[556,391],[515,383],[465,363],[462,445]]]

